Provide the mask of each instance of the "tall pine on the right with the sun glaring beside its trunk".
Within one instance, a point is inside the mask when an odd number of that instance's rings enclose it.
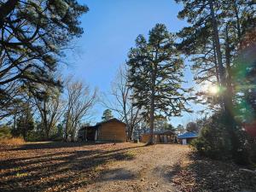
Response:
[[[195,61],[195,79],[199,83],[210,81],[220,86],[218,104],[224,113],[224,125],[230,133],[232,151],[236,155],[238,138],[234,112],[236,82],[232,77],[234,59],[239,51],[241,39],[255,27],[255,10],[251,0],[177,0],[183,3],[180,19],[186,19],[178,36],[182,38],[179,49]]]

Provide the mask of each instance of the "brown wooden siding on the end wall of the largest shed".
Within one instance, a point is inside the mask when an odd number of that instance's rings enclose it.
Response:
[[[106,122],[100,125],[98,141],[125,142],[125,124],[119,122]]]

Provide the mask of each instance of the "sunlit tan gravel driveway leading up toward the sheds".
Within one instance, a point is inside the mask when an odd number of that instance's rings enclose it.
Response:
[[[171,179],[189,147],[159,144],[145,148],[133,160],[110,164],[86,191],[177,191]]]

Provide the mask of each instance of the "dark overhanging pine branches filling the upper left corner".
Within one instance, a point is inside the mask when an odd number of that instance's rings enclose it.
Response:
[[[1,108],[15,102],[9,97],[19,95],[24,84],[61,85],[55,70],[63,49],[83,33],[79,17],[87,11],[76,0],[0,1]]]

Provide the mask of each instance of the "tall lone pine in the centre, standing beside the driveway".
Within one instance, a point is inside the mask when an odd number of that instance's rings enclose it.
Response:
[[[150,126],[150,141],[154,143],[154,117],[165,114],[179,116],[186,108],[183,89],[183,60],[179,57],[175,37],[166,26],[157,24],[149,32],[148,41],[143,35],[136,39],[136,47],[129,52],[129,82],[134,90],[135,105],[142,108]]]

